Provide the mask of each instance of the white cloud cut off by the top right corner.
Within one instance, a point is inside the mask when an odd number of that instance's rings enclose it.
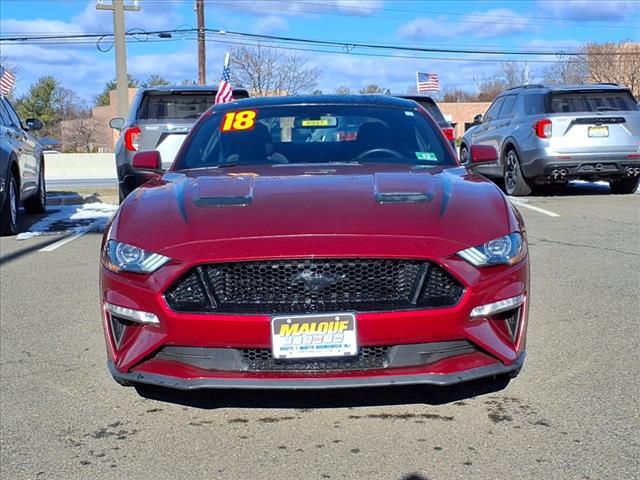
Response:
[[[545,16],[567,20],[624,20],[640,13],[640,4],[633,0],[538,0],[537,4]]]

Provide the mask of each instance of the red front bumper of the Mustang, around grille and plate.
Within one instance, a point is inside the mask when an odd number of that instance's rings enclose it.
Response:
[[[411,244],[407,252],[417,249]],[[528,260],[515,266],[485,269],[476,269],[456,256],[441,258],[436,263],[465,287],[457,304],[420,310],[356,313],[359,347],[397,347],[403,350],[404,358],[412,349],[426,349],[417,357],[414,355],[418,360],[394,363],[392,360],[396,357],[390,352],[391,360],[383,367],[369,365],[367,368],[305,371],[252,370],[238,362],[220,363],[219,354],[230,355],[225,350],[270,351],[270,316],[171,310],[163,293],[192,265],[169,263],[147,277],[114,274],[103,267],[103,303],[151,312],[159,319],[157,325],[126,327],[116,342],[112,319],[103,309],[109,368],[119,380],[180,389],[447,385],[519,371],[524,360],[528,322]],[[519,321],[515,332],[508,331],[501,319],[470,317],[474,307],[519,295],[524,295],[525,300],[518,307]],[[467,342],[473,348],[438,358],[423,355],[439,342]],[[166,350],[171,348],[208,351],[209,359],[195,361],[193,358],[185,360],[184,356],[167,356]]]

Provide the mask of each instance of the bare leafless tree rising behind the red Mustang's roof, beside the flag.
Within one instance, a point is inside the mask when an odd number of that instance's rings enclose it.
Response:
[[[295,95],[311,91],[320,72],[307,67],[295,54],[283,54],[270,47],[237,47],[231,50],[231,81],[253,95]]]

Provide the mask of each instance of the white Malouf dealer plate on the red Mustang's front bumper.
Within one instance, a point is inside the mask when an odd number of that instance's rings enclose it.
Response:
[[[352,313],[273,317],[271,345],[279,359],[354,356],[356,317]]]

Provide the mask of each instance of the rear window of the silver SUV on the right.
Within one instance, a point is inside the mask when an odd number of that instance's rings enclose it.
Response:
[[[631,94],[625,90],[552,93],[550,113],[636,111]]]

